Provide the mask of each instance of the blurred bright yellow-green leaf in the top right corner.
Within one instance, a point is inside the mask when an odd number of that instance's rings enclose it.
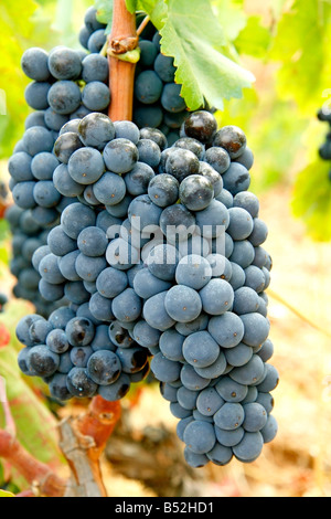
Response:
[[[330,87],[330,2],[296,0],[277,27],[270,57],[280,63],[278,93],[302,113],[316,113]]]

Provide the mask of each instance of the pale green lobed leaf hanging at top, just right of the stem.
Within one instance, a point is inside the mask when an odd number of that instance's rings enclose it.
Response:
[[[241,98],[254,75],[233,61],[234,53],[210,2],[167,0],[168,18],[160,30],[162,52],[174,57],[175,80],[189,109],[205,100],[223,109],[224,99]],[[202,15],[203,13],[203,15]]]

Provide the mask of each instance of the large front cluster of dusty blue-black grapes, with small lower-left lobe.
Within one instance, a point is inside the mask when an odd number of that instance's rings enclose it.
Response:
[[[56,398],[113,401],[152,356],[188,463],[249,463],[277,433],[278,383],[268,231],[248,192],[254,157],[245,134],[217,131],[209,112],[189,115],[182,135],[168,147],[159,129],[99,113],[61,134],[54,184],[78,200],[34,265],[42,296],[71,305],[58,322],[19,324],[20,366]]]

